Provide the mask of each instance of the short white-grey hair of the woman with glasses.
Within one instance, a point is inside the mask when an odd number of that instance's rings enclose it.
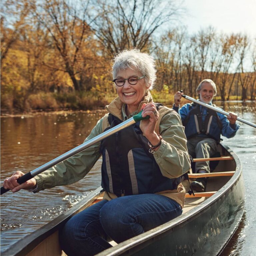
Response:
[[[152,56],[140,52],[139,49],[123,50],[116,54],[112,59],[112,75],[116,78],[121,70],[131,68],[140,71],[145,76],[146,85],[152,90],[156,80],[156,63]]]

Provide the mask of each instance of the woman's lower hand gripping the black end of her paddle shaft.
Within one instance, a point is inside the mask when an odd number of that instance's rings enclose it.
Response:
[[[31,189],[36,187],[36,179],[32,178],[22,184],[19,184],[17,182],[17,179],[20,178],[21,176],[25,175],[21,171],[15,172],[10,178],[6,178],[3,182],[3,187],[5,189],[10,189],[13,193],[21,190],[21,189]]]

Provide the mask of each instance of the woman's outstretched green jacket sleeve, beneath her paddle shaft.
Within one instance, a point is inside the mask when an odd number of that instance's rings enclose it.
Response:
[[[102,118],[84,142],[102,133]],[[82,179],[100,158],[100,142],[53,166],[35,177],[37,192],[46,188],[74,183]]]

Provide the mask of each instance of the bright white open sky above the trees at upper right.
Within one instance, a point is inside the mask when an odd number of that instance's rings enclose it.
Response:
[[[189,34],[213,26],[217,32],[246,33],[256,38],[256,0],[184,0],[182,22]]]

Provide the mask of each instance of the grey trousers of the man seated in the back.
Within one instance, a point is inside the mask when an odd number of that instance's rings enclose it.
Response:
[[[187,141],[188,153],[193,158],[209,158],[217,151],[217,142],[214,139],[193,137]],[[210,172],[209,161],[196,162],[195,172]]]

